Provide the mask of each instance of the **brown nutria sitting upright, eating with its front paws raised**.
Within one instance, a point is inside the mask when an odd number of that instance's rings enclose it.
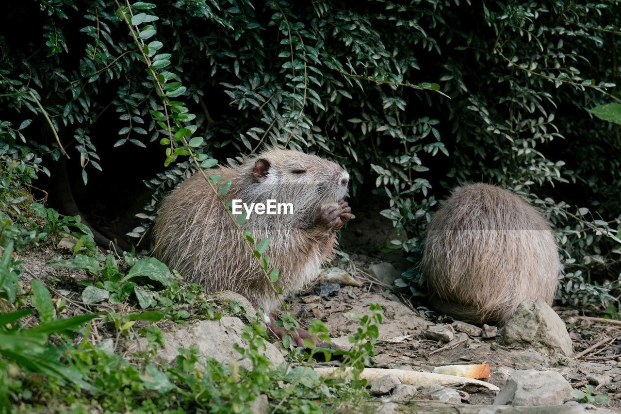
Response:
[[[278,268],[278,282],[268,280],[200,172],[161,203],[153,227],[153,255],[207,292],[232,290],[247,297],[263,308],[271,331],[282,337],[283,329],[268,316],[282,299],[276,292],[278,288],[283,295],[298,292],[332,256],[336,232],[351,218],[351,208],[343,201],[349,175],[337,163],[281,149],[205,173],[222,175],[220,183],[231,180],[222,199],[232,204],[233,213],[247,214],[242,231],[251,229],[256,242],[270,239],[267,272]],[[283,206],[281,214],[271,214],[270,206],[271,213]],[[294,340],[303,343],[299,337]]]

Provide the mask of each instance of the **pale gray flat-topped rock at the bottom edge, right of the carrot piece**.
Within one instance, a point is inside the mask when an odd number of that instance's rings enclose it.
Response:
[[[494,405],[560,405],[571,400],[571,385],[556,371],[516,370]]]

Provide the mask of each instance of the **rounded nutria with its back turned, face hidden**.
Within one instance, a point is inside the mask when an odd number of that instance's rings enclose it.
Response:
[[[422,270],[437,311],[504,324],[524,300],[552,303],[561,264],[550,226],[535,208],[478,183],[453,190],[433,216]]]

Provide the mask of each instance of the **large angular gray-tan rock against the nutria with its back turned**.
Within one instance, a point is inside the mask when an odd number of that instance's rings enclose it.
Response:
[[[573,355],[565,324],[542,299],[520,303],[500,334],[505,344],[528,344],[543,352]]]

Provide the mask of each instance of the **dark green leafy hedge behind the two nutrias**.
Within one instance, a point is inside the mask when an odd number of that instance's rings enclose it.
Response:
[[[619,101],[620,11],[612,0],[25,1],[5,12],[27,29],[0,28],[3,203],[14,178],[48,168],[35,186],[52,204],[75,214],[73,195],[135,243],[190,173],[181,136],[220,162],[284,145],[343,163],[352,205],[383,197],[402,236],[392,246],[414,258],[453,186],[517,191],[555,226],[561,299],[607,305],[621,271],[621,138],[587,109]]]

